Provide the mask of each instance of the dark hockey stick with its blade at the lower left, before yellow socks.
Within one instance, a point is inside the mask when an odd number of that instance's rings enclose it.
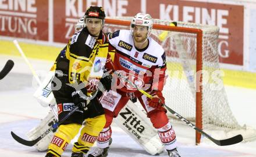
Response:
[[[32,147],[33,145],[35,145],[36,143],[38,143],[38,141],[42,140],[42,138],[44,138],[45,136],[47,136],[48,133],[51,133],[52,130],[58,128],[58,126],[63,122],[65,121],[67,118],[69,118],[70,115],[72,115],[77,109],[78,109],[78,105],[73,108],[69,114],[67,114],[61,121],[59,122],[56,122],[54,123],[51,127],[49,127],[49,129],[47,129],[44,133],[41,134],[40,137],[37,137],[35,140],[31,140],[31,141],[28,141],[28,140],[24,140],[23,138],[17,136],[15,133],[13,132],[10,132],[10,134],[12,134],[12,137],[20,144],[23,144],[23,145],[27,145],[29,147]]]

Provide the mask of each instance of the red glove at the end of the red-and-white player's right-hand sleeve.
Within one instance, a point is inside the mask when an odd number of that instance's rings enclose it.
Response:
[[[163,104],[165,104],[165,98],[163,97],[162,92],[158,90],[153,90],[151,93],[152,99],[148,99],[148,105],[152,108],[161,109]]]

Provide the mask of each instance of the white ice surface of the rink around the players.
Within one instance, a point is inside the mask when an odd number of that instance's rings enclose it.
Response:
[[[32,74],[21,57],[0,55],[0,70],[8,59],[12,59],[15,65],[8,76],[0,81],[0,157],[43,157],[45,152],[19,144],[10,136],[10,131],[13,131],[26,138],[26,133],[37,126],[40,118],[48,114],[48,108],[41,107],[33,98],[35,80],[32,83]],[[35,70],[41,72],[48,71],[52,65],[49,61],[30,61]],[[226,86],[226,92],[233,114],[240,125],[246,123],[256,129],[256,90]],[[256,141],[226,147],[213,143],[195,146],[193,129],[175,125],[174,128],[182,157],[256,157]],[[115,124],[112,130],[113,143],[109,149],[109,157],[151,156]],[[72,145],[63,156],[70,156],[71,148]],[[158,156],[167,156],[167,153],[163,152]]]

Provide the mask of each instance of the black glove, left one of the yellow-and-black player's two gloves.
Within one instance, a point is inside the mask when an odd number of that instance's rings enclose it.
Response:
[[[86,110],[87,109],[86,97],[81,97],[80,92],[82,92],[82,94],[86,96],[87,89],[83,88],[81,90],[77,90],[73,92],[72,93],[73,102],[74,102],[74,105],[78,106],[80,110]]]

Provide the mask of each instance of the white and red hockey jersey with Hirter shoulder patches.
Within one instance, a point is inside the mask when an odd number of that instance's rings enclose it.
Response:
[[[149,37],[147,47],[137,49],[129,30],[115,31],[108,35],[108,39],[109,51],[113,48],[115,57],[113,61],[107,61],[107,69],[113,69],[127,76],[140,89],[162,91],[166,77],[166,57],[161,45]],[[118,79],[116,83],[117,89],[122,92],[139,94],[137,89],[122,79]]]

